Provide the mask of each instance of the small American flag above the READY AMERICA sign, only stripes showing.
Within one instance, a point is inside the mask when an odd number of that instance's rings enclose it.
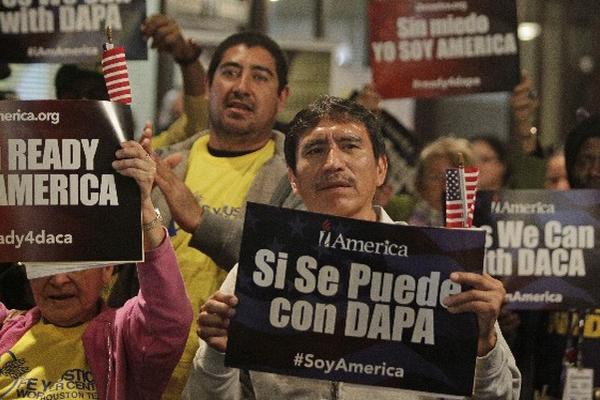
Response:
[[[108,97],[110,101],[131,104],[131,86],[125,62],[125,49],[112,47],[112,45],[106,47],[102,52],[102,72]]]

